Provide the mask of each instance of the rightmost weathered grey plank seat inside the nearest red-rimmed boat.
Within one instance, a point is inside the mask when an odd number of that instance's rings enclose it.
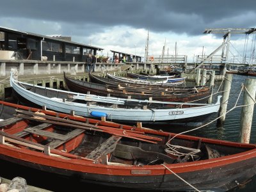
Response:
[[[88,159],[97,160],[101,156],[107,155],[113,152],[116,148],[117,142],[121,139],[120,136],[111,136],[108,140],[104,141],[99,147],[95,148],[90,154],[86,156]]]

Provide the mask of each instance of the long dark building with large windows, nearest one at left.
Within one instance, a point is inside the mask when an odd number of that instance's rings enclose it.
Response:
[[[72,42],[71,37],[67,36],[45,36],[0,27],[0,53],[11,52],[8,55],[19,60],[85,61],[86,54],[96,55],[97,51],[102,50],[100,47]]]

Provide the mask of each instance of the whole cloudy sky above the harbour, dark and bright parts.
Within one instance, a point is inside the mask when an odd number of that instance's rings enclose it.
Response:
[[[145,56],[209,55],[222,35],[205,28],[255,28],[255,0],[1,0],[0,26]],[[255,35],[231,35],[230,55],[253,55]],[[246,42],[246,43],[245,43]],[[204,49],[203,49],[204,47]],[[220,53],[221,54],[221,53]]]

